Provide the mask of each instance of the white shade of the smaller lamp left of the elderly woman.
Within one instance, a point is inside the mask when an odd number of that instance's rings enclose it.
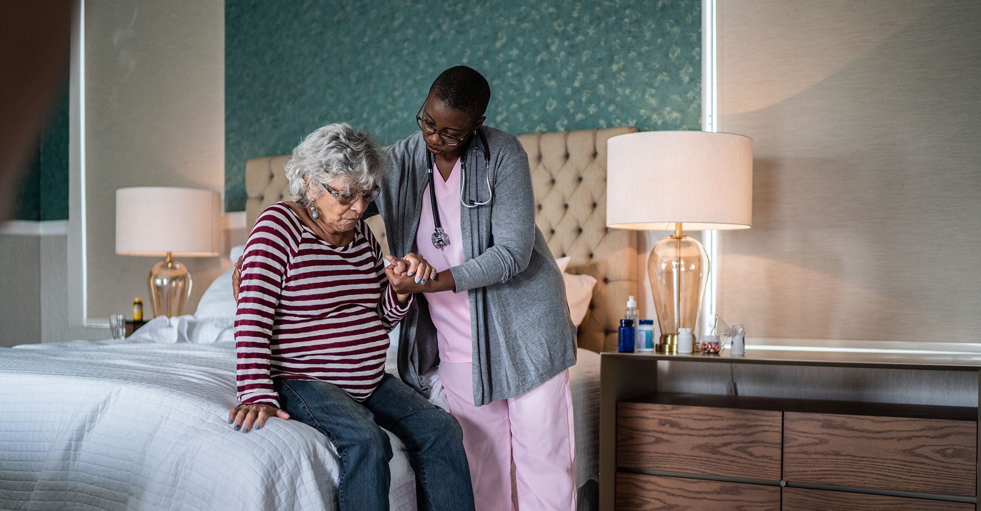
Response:
[[[116,253],[216,256],[221,251],[218,192],[168,186],[116,190]]]

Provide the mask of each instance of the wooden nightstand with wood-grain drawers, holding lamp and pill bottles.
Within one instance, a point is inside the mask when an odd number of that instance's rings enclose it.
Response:
[[[981,378],[981,361],[955,355],[602,353],[603,511],[976,509],[977,407],[658,392],[659,361]]]

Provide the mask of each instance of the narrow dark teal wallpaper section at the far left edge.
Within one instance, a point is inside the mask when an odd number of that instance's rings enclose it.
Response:
[[[68,220],[68,84],[31,154],[14,218]]]

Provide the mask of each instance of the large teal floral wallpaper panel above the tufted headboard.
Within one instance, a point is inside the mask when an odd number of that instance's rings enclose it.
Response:
[[[226,0],[227,211],[245,161],[334,122],[392,143],[433,79],[490,81],[487,124],[513,133],[697,129],[699,0]]]

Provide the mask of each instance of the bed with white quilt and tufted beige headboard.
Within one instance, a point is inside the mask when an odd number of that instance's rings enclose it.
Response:
[[[615,347],[626,296],[638,292],[637,234],[606,230],[604,221],[606,139],[632,130],[520,137],[537,223],[565,265],[580,321],[579,363],[570,372],[580,509],[594,509],[598,480],[597,352]],[[284,161],[248,162],[249,226],[282,198]],[[384,241],[381,222],[371,223]],[[194,315],[156,318],[123,342],[0,348],[0,509],[336,508],[336,452],[321,434],[296,421],[270,421],[258,434],[228,426],[235,404],[228,280],[212,283]],[[393,361],[387,368],[395,370]],[[391,509],[415,509],[412,471],[389,436]]]

